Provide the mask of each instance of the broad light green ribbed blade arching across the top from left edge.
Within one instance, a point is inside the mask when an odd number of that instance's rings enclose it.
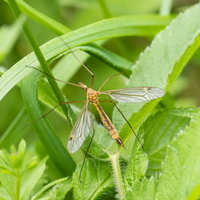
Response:
[[[83,28],[71,31],[62,39],[71,47],[91,43],[105,38],[128,35],[154,35],[168,24],[169,17],[155,16],[125,16],[103,20]],[[119,23],[120,22],[120,23]],[[148,27],[147,27],[148,25]],[[146,28],[147,27],[147,28]],[[149,31],[148,31],[149,30]],[[150,31],[151,30],[151,31]],[[52,60],[68,50],[66,44],[58,37],[41,46],[46,60]],[[39,63],[33,53],[30,53],[0,78],[0,100],[10,89],[28,75],[32,70],[25,66],[38,67]],[[70,68],[71,66],[69,66]]]

